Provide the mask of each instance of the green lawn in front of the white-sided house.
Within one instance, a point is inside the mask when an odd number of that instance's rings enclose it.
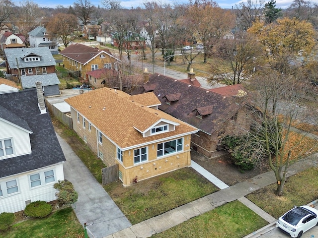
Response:
[[[83,238],[84,229],[71,207],[56,211],[45,218],[36,218],[13,225],[0,232],[0,238]]]

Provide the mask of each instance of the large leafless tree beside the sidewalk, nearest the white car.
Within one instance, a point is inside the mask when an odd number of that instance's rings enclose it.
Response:
[[[268,159],[277,181],[275,193],[281,196],[290,164],[316,149],[306,148],[293,153],[296,145],[290,143],[293,126],[297,121],[306,121],[308,117],[299,107],[308,84],[300,83],[291,75],[266,69],[254,78],[250,86],[251,100],[248,105],[253,106],[249,109],[255,109],[255,120],[247,143],[252,150],[262,153]],[[304,140],[306,135],[300,136],[297,145]]]

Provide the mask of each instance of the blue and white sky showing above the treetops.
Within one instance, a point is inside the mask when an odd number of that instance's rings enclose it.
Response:
[[[20,0],[13,0],[13,2],[16,5],[19,5]],[[33,0],[34,2],[38,3],[42,7],[53,7],[55,8],[56,5],[64,5],[64,6],[70,6],[73,5],[75,0]],[[101,0],[90,0],[91,3],[95,6],[101,4]],[[147,0],[148,1],[148,0]],[[177,2],[177,3],[188,3],[188,0],[160,0],[161,2]],[[193,0],[194,1],[194,0]],[[239,2],[244,1],[244,0],[215,0],[220,7],[222,8],[235,8],[236,4],[239,4]],[[269,0],[265,0],[266,2]],[[136,7],[143,7],[143,2],[144,0],[121,0],[121,5],[125,8],[131,8],[132,6],[134,8]],[[287,8],[290,6],[290,4],[293,2],[293,0],[276,0],[276,5],[277,7],[281,8]],[[312,2],[318,3],[318,0],[312,0]]]

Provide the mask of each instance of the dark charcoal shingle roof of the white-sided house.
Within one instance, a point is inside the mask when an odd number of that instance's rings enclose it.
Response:
[[[33,132],[30,134],[32,153],[0,160],[0,178],[65,162],[50,115],[40,113],[35,89],[0,94],[0,106],[11,113],[10,120],[24,127],[26,122]]]

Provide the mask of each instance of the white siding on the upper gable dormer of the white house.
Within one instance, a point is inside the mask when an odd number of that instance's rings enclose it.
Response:
[[[0,140],[7,138],[13,138],[14,156],[31,153],[29,133],[0,120]]]

